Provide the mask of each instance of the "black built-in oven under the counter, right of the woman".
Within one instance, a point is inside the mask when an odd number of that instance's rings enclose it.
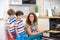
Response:
[[[50,30],[60,31],[60,18],[50,18]],[[50,33],[50,37],[60,38],[60,33]]]

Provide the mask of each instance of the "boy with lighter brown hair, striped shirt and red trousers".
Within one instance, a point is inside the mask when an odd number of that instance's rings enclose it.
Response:
[[[16,35],[14,30],[14,22],[16,21],[15,11],[13,9],[9,9],[7,14],[9,15],[6,23],[8,40],[14,40]]]

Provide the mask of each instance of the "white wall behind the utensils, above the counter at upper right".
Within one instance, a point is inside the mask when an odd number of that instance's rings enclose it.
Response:
[[[60,12],[60,0],[44,0],[44,15],[46,15],[47,9],[53,9],[53,7],[56,7],[56,13]]]

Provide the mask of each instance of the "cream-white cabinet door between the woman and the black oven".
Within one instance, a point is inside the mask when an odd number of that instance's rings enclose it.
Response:
[[[49,30],[49,19],[48,18],[39,18],[38,26],[41,30]],[[49,36],[49,33],[44,33],[44,36]]]

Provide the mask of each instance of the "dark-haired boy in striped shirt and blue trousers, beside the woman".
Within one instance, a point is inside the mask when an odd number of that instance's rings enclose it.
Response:
[[[16,40],[24,40],[24,25],[23,25],[23,12],[17,11],[16,12],[16,22],[15,22],[15,29],[16,29]]]

